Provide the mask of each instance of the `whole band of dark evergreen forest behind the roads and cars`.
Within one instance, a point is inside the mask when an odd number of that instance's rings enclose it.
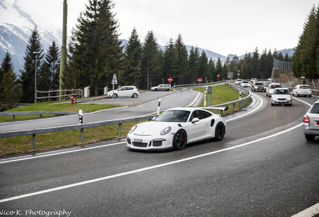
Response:
[[[233,72],[235,79],[238,70],[241,78],[267,79],[271,77],[274,58],[292,62],[295,77],[319,78],[319,6],[310,10],[293,56],[283,56],[276,49],[259,51],[256,47],[243,58],[235,55],[224,62],[221,58],[208,58],[198,47],[191,47],[188,52],[181,34],[162,48],[152,31],[141,40],[134,27],[127,44],[122,47],[113,9],[112,0],[89,0],[85,11],[79,15],[68,43],[62,89],[73,89],[76,79],[77,88],[90,86],[91,96],[98,96],[103,93],[103,87],[111,87],[113,74],[116,74],[117,85],[135,85],[142,90],[169,83],[169,77],[173,78],[173,85],[197,83],[199,77],[203,82],[226,80],[228,72]],[[0,97],[3,102],[8,101],[2,110],[18,102],[33,103],[36,65],[37,90],[59,89],[60,48],[53,41],[44,51],[37,26],[30,35],[24,60],[19,77],[13,72],[9,52],[1,62]]]

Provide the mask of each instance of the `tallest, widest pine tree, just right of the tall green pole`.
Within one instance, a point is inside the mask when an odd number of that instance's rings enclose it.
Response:
[[[69,43],[68,72],[63,77],[66,86],[72,87],[76,79],[81,88],[93,86],[97,96],[100,85],[110,84],[120,70],[122,48],[113,8],[111,0],[89,0],[80,14]]]

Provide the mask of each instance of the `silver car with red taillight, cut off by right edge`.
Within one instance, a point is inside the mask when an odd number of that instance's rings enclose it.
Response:
[[[308,141],[319,136],[319,100],[314,102],[308,112],[303,116],[303,134]]]

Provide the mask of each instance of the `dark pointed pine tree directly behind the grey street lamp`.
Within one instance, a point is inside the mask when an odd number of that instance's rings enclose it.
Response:
[[[33,52],[39,52],[39,54],[34,54]],[[32,103],[35,95],[35,61],[37,59],[37,74],[39,74],[41,73],[43,59],[43,48],[37,26],[35,26],[29,38],[24,59],[25,64],[23,70],[20,70],[20,84],[23,91],[21,101]],[[37,79],[37,86],[38,85]]]

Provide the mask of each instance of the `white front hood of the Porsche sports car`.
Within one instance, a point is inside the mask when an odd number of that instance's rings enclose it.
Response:
[[[172,127],[173,125],[177,126],[178,124],[177,122],[144,122],[137,124],[137,128],[133,131],[133,134],[143,136],[159,134],[164,128]]]

